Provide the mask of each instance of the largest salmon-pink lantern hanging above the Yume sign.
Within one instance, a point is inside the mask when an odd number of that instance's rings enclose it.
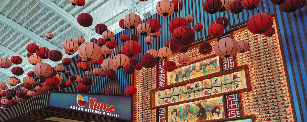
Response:
[[[101,49],[93,42],[85,42],[80,45],[78,54],[84,60],[95,61],[101,56]]]

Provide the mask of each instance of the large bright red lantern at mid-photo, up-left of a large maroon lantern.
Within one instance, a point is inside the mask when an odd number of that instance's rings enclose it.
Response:
[[[141,45],[136,41],[127,41],[122,45],[122,52],[126,56],[135,57],[142,52]]]

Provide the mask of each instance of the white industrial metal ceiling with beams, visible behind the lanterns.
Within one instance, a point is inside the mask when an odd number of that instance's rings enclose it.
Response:
[[[159,0],[140,2],[139,0],[85,0],[84,6],[73,6],[69,0],[2,0],[0,1],[0,57],[8,58],[20,56],[24,69],[22,79],[28,71],[33,70],[33,65],[28,62],[26,45],[35,43],[39,47],[50,50],[59,50],[63,58],[67,55],[62,47],[65,39],[75,39],[83,36],[86,41],[90,38],[101,38],[95,33],[94,27],[98,23],[107,25],[108,30],[115,34],[122,31],[119,20],[128,13],[136,13],[144,19],[156,13]],[[93,17],[90,27],[82,27],[77,23],[80,13],[88,13]],[[47,39],[45,33],[51,32],[54,38]],[[55,66],[59,62],[43,59],[42,62]],[[0,69],[0,79],[3,82],[14,76],[8,69]],[[9,88],[12,88],[8,85]]]

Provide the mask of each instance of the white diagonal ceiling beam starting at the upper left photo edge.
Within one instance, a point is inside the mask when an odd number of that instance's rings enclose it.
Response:
[[[10,20],[9,18],[3,16],[2,14],[0,14],[0,23],[3,23],[7,27],[10,27],[10,28],[14,29],[15,31],[18,31],[21,34],[24,34],[29,39],[37,42],[38,44],[40,44],[40,45],[42,45],[46,48],[49,48],[50,50],[52,50],[52,49],[59,50],[60,49],[56,45],[53,45],[52,43],[46,41],[45,39],[41,38],[37,34],[35,34],[32,31],[26,29],[25,27],[22,27],[20,24],[14,22],[13,20]]]

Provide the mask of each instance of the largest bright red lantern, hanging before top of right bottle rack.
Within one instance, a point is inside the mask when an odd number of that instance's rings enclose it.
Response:
[[[273,18],[267,13],[258,13],[252,16],[247,23],[247,29],[253,34],[262,34],[273,26]]]

